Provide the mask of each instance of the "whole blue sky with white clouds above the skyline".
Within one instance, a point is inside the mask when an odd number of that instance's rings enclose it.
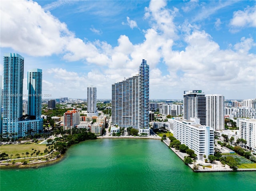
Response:
[[[150,67],[150,99],[256,98],[256,1],[0,1],[0,54],[42,69],[43,98],[111,99]],[[2,75],[2,59],[0,64]]]

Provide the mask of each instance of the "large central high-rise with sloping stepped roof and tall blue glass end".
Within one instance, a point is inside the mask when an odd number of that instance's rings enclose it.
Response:
[[[142,60],[139,74],[112,85],[112,124],[149,135],[149,65]]]

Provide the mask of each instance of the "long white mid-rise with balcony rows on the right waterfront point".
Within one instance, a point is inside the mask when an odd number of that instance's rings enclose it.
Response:
[[[204,155],[214,154],[214,129],[199,124],[198,118],[191,120],[181,120],[172,118],[170,120],[170,131],[173,136],[185,144],[188,148],[194,150],[197,158],[204,159]]]

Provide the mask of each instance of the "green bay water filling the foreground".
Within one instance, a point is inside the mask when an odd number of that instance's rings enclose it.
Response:
[[[252,191],[256,172],[194,173],[160,140],[97,139],[38,169],[1,169],[1,191]]]

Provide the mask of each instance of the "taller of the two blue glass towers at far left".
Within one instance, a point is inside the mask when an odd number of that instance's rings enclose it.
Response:
[[[3,134],[20,133],[22,120],[24,57],[16,53],[4,54],[3,61]]]

